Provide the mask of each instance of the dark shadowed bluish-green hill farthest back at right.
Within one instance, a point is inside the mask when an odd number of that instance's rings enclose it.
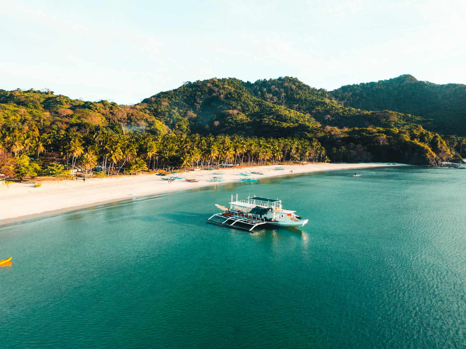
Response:
[[[440,134],[466,136],[466,85],[438,85],[412,75],[340,87],[330,94],[344,106],[393,110],[425,119],[419,123]]]

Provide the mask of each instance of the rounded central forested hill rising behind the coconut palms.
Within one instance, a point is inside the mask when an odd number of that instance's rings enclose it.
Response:
[[[400,128],[414,127],[419,120],[386,110],[342,107],[325,90],[291,77],[254,83],[233,78],[186,82],[144,99],[138,107],[171,129],[199,134],[309,136],[320,125]]]

